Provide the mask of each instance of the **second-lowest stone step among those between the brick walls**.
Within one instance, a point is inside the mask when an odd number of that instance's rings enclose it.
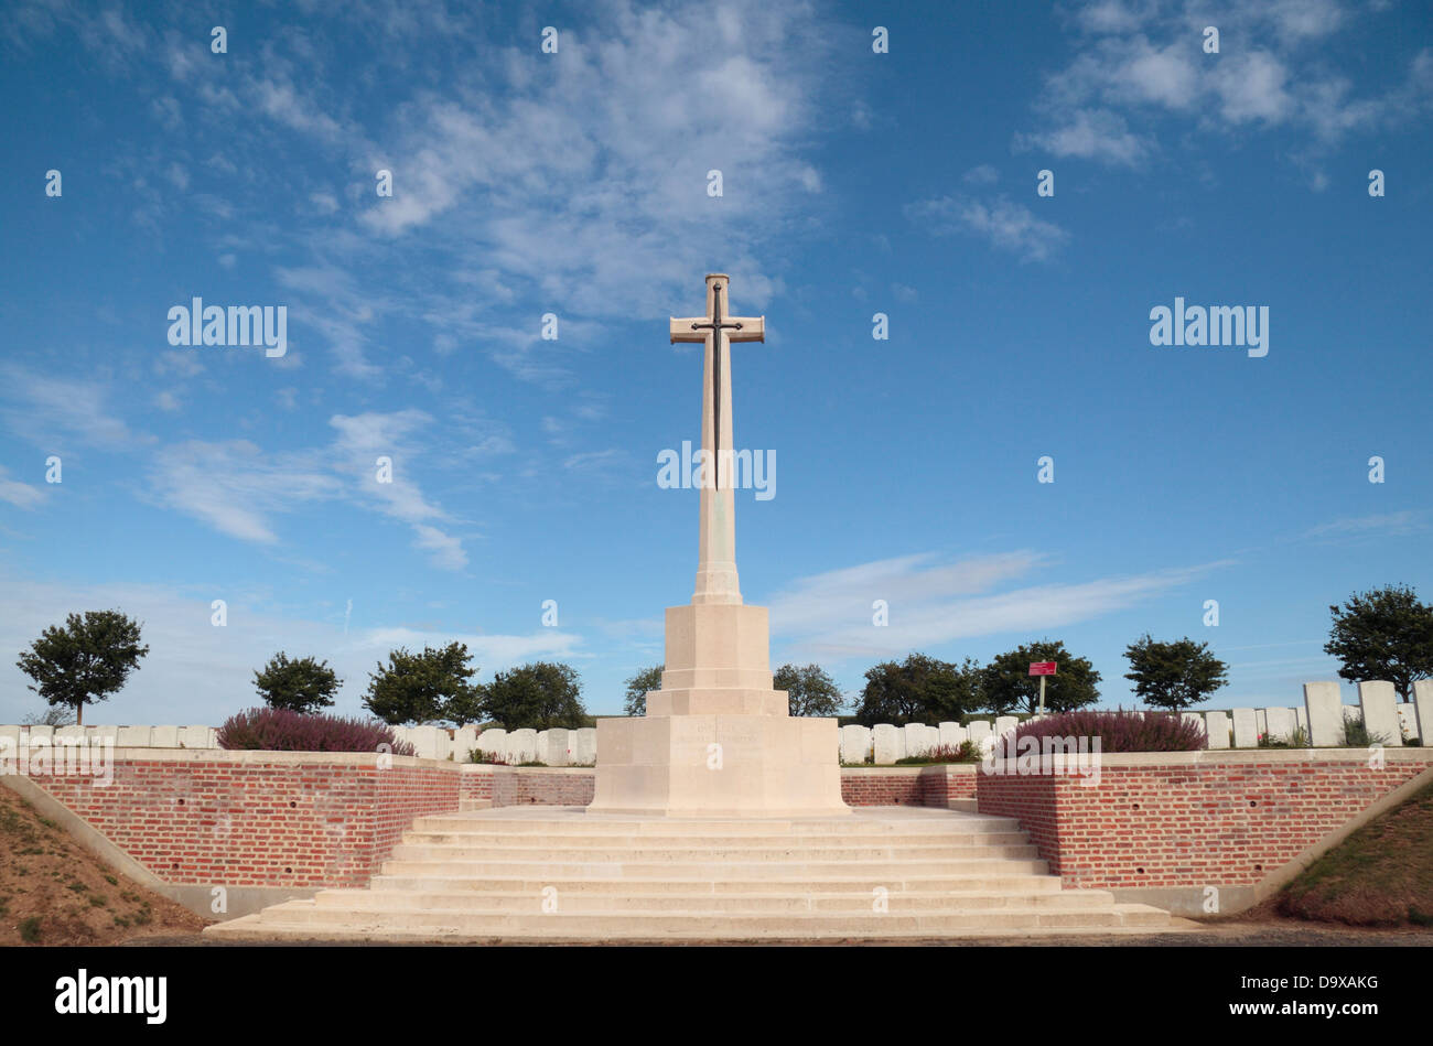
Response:
[[[503,861],[487,854],[479,860],[434,858],[423,861],[388,860],[383,863],[384,875],[522,875],[524,878],[665,878],[672,874],[672,861]],[[684,875],[691,878],[742,880],[742,878],[824,878],[857,877],[880,883],[887,878],[909,878],[913,875],[963,874],[1032,874],[1043,875],[1049,870],[1042,860],[1016,857],[952,857],[939,861],[898,858],[870,861],[685,861]]]

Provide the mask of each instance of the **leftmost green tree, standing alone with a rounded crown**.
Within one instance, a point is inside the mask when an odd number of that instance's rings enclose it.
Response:
[[[32,691],[52,706],[73,708],[76,724],[83,724],[85,705],[119,691],[146,653],[139,622],[119,610],[86,610],[69,615],[64,628],[44,629],[16,666],[34,679]]]

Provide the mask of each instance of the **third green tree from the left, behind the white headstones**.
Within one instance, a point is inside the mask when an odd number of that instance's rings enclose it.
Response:
[[[387,665],[380,662],[378,671],[368,673],[363,705],[391,725],[473,722],[481,692],[470,682],[477,669],[469,666],[469,658],[466,643],[424,646],[423,653],[393,651]]]

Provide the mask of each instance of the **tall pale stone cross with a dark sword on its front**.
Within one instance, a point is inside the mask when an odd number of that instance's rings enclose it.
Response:
[[[696,552],[694,603],[739,603],[737,580],[737,516],[732,497],[734,443],[731,433],[731,342],[765,341],[765,317],[728,315],[729,278],[722,272],[706,277],[706,315],[672,317],[672,342],[701,341],[706,345],[702,373],[701,526]],[[725,476],[725,481],[724,477]]]

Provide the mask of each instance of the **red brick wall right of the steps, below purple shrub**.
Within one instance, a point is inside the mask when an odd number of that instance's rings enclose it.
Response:
[[[1118,757],[1115,757],[1118,758]],[[1426,769],[1310,757],[977,775],[982,814],[1015,817],[1066,887],[1252,886]]]

